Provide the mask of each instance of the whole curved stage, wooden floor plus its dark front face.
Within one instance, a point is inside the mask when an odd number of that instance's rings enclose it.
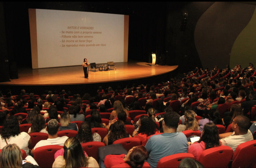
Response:
[[[99,86],[106,88],[111,86],[116,89],[117,86],[124,88],[127,84],[153,84],[166,82],[176,75],[178,66],[151,66],[146,62],[128,61],[125,63],[115,63],[116,71],[110,68],[108,71],[94,72],[89,66],[89,79],[84,78],[82,66],[57,67],[32,69],[18,69],[18,79],[10,82],[0,83],[0,90],[11,89],[13,95],[20,94],[21,89],[28,93],[47,94],[47,90],[60,92],[62,89],[72,93],[89,93],[91,96],[97,95]],[[98,66],[98,65],[97,65]]]

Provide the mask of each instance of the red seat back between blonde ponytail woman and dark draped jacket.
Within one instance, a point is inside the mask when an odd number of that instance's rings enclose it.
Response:
[[[93,157],[99,162],[98,148],[105,146],[103,142],[86,142],[81,143],[81,146],[89,157]]]

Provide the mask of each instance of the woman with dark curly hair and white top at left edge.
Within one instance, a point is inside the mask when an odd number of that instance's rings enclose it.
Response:
[[[28,145],[31,144],[30,136],[27,132],[20,132],[18,118],[14,115],[6,118],[1,131],[0,149],[8,144],[17,144],[29,155]]]

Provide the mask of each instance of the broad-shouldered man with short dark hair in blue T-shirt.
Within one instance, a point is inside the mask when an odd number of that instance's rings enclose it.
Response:
[[[156,167],[158,161],[165,156],[188,152],[186,136],[182,132],[176,132],[179,119],[177,112],[165,112],[162,124],[164,133],[153,135],[147,141],[145,148],[149,154],[147,162],[150,167]]]

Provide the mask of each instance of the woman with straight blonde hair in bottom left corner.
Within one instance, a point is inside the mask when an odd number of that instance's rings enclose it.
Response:
[[[28,160],[36,165],[33,165]],[[3,147],[0,153],[0,167],[39,167],[32,156],[27,156],[24,162],[26,163],[22,164],[22,153],[16,144],[8,144]]]

